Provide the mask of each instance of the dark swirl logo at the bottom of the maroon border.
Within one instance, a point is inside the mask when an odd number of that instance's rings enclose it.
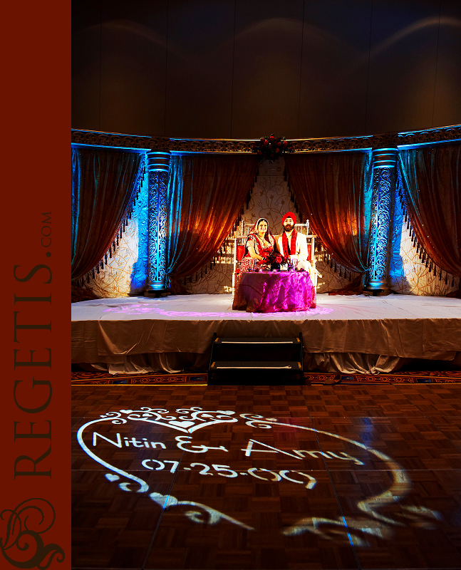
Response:
[[[61,546],[45,545],[40,536],[56,519],[53,505],[46,499],[26,499],[15,509],[4,509],[0,519],[6,521],[6,537],[0,537],[0,549],[12,566],[45,570],[55,557],[60,563],[64,560]]]

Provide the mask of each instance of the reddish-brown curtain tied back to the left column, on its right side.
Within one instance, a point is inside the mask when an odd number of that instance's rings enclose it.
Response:
[[[167,277],[170,289],[212,260],[231,232],[254,184],[252,155],[177,155],[170,163]]]

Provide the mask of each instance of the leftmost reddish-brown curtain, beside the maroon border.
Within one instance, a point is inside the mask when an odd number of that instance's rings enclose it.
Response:
[[[103,258],[133,202],[140,154],[72,149],[72,281]]]

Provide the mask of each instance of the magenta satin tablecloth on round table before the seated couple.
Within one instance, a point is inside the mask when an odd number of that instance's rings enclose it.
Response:
[[[240,276],[232,309],[279,313],[306,311],[315,306],[316,290],[307,271],[264,271]]]

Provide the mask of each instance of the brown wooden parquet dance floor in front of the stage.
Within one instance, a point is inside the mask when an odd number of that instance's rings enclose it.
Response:
[[[461,385],[73,386],[74,569],[460,569]]]

